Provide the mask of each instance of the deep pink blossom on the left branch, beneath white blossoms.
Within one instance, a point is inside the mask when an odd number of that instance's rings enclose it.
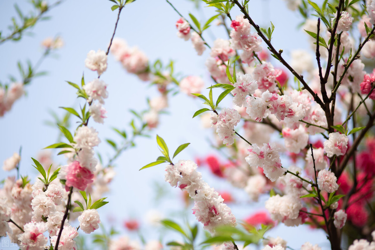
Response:
[[[79,162],[74,161],[68,165],[65,184],[84,191],[88,184],[93,183],[93,178],[94,174],[89,169],[82,168]]]

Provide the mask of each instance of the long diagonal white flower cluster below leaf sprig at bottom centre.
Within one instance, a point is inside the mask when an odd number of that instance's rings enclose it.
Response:
[[[223,203],[224,199],[219,193],[202,180],[196,168],[191,160],[179,160],[175,165],[166,166],[165,181],[189,193],[194,199],[193,214],[211,234],[220,225],[236,226],[236,217],[231,209]]]

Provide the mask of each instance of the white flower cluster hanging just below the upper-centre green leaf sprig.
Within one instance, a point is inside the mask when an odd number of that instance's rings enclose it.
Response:
[[[216,132],[223,144],[234,143],[234,127],[240,122],[241,115],[236,109],[224,108],[219,115],[211,115],[211,124],[216,125]]]

